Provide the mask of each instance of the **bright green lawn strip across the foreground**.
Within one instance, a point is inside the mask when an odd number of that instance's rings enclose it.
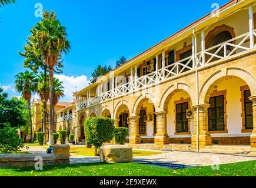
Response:
[[[0,169],[0,176],[256,176],[256,160],[220,165],[220,170],[211,166],[169,170],[136,163],[93,163]]]

